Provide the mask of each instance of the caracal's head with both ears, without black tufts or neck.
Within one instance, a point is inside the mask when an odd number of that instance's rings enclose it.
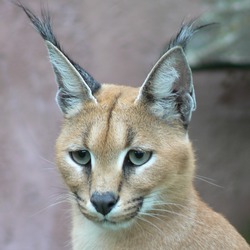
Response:
[[[64,56],[56,52],[61,63]],[[79,86],[72,82],[63,90],[72,87],[77,94],[57,95],[64,124],[56,159],[76,209],[94,223],[117,228],[163,202],[181,203],[192,183],[187,126],[195,108],[182,49],[165,54],[140,88],[102,84],[93,93],[72,65],[65,67]]]

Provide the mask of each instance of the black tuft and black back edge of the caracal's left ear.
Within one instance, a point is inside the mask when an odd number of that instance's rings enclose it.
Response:
[[[79,74],[83,77],[85,82],[88,84],[92,93],[94,94],[97,90],[101,87],[101,84],[98,83],[86,70],[84,70],[79,64],[75,63],[72,59],[70,59],[67,54],[62,50],[60,43],[58,42],[57,38],[54,35],[52,26],[51,26],[51,17],[49,11],[45,10],[44,8],[41,9],[41,18],[37,17],[29,8],[24,6],[20,1],[14,2],[18,7],[20,7],[41,37],[54,46],[56,46],[71,62],[71,64],[76,68]]]

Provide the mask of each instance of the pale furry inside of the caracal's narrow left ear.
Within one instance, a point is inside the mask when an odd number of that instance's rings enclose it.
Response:
[[[90,87],[69,59],[51,42],[46,41],[46,45],[59,87],[56,101],[62,112],[71,116],[85,102],[97,103]]]

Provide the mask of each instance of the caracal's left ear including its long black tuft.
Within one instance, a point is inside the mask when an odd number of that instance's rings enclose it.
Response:
[[[58,83],[56,101],[64,115],[76,114],[87,101],[97,102],[94,94],[101,84],[63,52],[53,33],[49,12],[42,9],[41,17],[37,17],[19,1],[16,4],[23,9],[45,41]]]

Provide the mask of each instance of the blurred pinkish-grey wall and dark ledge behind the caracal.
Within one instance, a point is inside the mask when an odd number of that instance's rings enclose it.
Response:
[[[188,50],[198,103],[190,126],[195,182],[203,199],[249,237],[249,3],[22,2],[36,13],[48,5],[64,50],[96,80],[133,86],[142,84],[183,20],[221,23]],[[0,0],[1,249],[70,249],[70,208],[53,163],[62,121],[56,88],[42,39],[19,8]]]

